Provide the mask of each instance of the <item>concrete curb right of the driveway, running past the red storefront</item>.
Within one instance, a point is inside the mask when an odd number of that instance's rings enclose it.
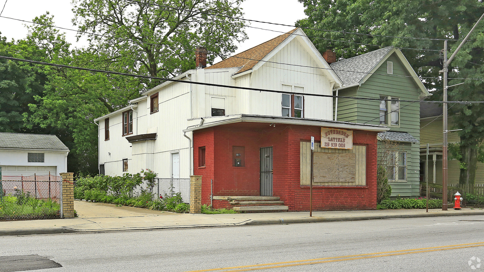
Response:
[[[352,221],[352,220],[369,220],[369,219],[387,219],[387,218],[414,218],[414,217],[434,217],[434,216],[455,216],[455,215],[480,215],[484,211],[462,211],[462,212],[439,212],[439,213],[418,213],[418,214],[400,214],[400,215],[353,215],[353,216],[335,216],[335,217],[299,217],[299,218],[273,218],[273,219],[256,219],[246,222],[243,225],[268,225],[268,224],[289,224],[289,223],[311,223],[311,222],[331,222],[331,221]]]

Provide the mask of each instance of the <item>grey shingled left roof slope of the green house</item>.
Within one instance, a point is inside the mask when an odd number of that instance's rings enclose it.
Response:
[[[383,47],[381,49],[371,51],[353,58],[346,60],[337,61],[331,63],[330,66],[333,68],[334,73],[343,81],[345,86],[351,86],[359,83],[364,76],[375,67],[375,65],[380,62],[393,46]],[[344,70],[344,71],[338,71]],[[358,71],[358,72],[348,72],[348,71]],[[363,72],[363,73],[361,73]]]

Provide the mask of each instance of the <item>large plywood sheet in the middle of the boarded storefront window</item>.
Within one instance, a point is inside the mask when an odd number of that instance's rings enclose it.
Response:
[[[314,152],[315,182],[355,182],[356,154]]]

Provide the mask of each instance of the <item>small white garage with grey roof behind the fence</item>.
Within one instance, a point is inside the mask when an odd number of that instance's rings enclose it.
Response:
[[[0,166],[5,176],[67,172],[69,149],[55,135],[0,133]]]

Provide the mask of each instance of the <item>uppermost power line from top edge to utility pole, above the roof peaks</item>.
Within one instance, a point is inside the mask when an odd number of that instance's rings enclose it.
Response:
[[[154,5],[154,6],[164,7],[164,8],[176,9],[176,10],[187,11],[187,12],[194,12],[192,10],[175,8],[175,7],[170,7],[170,6],[164,6],[164,5],[160,5],[160,4],[156,4],[156,3],[142,3],[142,2],[139,2],[139,1],[136,1],[136,0],[131,0],[131,1],[122,0],[122,1],[127,2],[127,3],[149,4],[149,5]],[[436,40],[436,41],[444,41],[444,40],[448,40],[448,41],[461,41],[461,40],[454,40],[454,39],[432,39],[432,38],[400,37],[400,36],[386,36],[386,35],[366,34],[366,33],[358,33],[358,32],[338,31],[338,30],[325,30],[325,29],[318,29],[318,28],[298,27],[298,26],[295,26],[295,25],[286,25],[286,24],[271,23],[271,22],[251,20],[251,19],[245,19],[245,18],[231,17],[231,16],[227,16],[227,15],[211,14],[211,13],[201,12],[201,11],[197,11],[197,12],[198,13],[201,13],[201,14],[215,15],[215,16],[225,17],[225,18],[229,18],[229,19],[237,19],[237,20],[244,20],[244,21],[250,21],[250,22],[256,22],[256,23],[264,23],[264,24],[271,24],[271,25],[278,25],[278,26],[285,26],[285,27],[293,27],[293,28],[302,28],[302,29],[308,29],[308,30],[321,30],[321,31],[345,33],[345,34],[356,34],[356,35],[366,35],[366,36],[378,36],[378,37],[388,37],[388,38],[402,38],[402,39],[416,39],[416,40]],[[262,30],[267,30],[267,29],[262,29]],[[271,31],[273,31],[273,30],[271,30]],[[407,48],[407,49],[412,49],[412,48]],[[413,48],[413,49],[415,49],[415,48]],[[422,50],[422,49],[419,49],[419,50]]]

